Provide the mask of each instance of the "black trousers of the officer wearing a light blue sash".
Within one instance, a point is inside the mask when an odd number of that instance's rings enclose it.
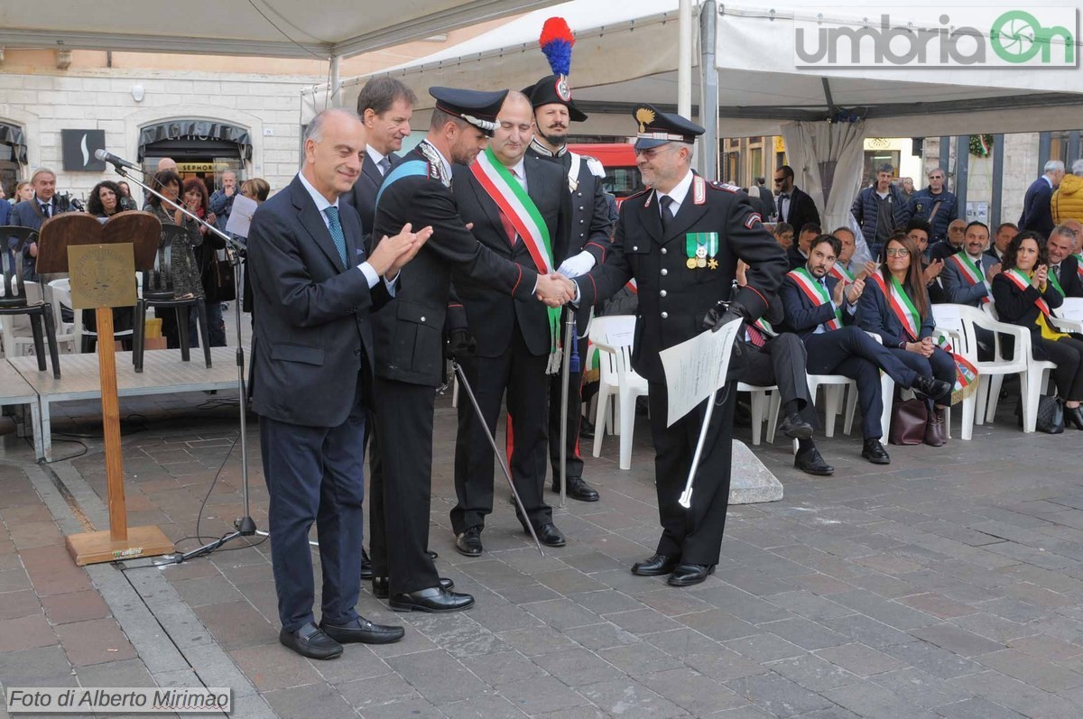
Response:
[[[392,593],[435,587],[440,576],[426,551],[435,388],[377,377],[373,395],[383,495],[383,532],[374,525],[373,537],[379,534],[387,541],[386,550],[374,546],[374,573],[388,576]],[[360,541],[354,551],[360,558]],[[387,557],[386,567],[376,564],[377,551]]]

